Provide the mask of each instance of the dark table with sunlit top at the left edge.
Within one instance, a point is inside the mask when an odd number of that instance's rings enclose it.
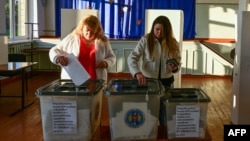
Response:
[[[17,111],[13,112],[10,114],[10,116],[15,115],[16,113],[20,112],[21,110],[23,110],[24,108],[30,106],[31,104],[33,104],[33,102],[25,105],[25,73],[26,73],[26,69],[36,65],[37,62],[8,62],[7,64],[2,64],[0,65],[0,76],[16,76],[16,75],[21,75],[22,77],[22,92],[21,92],[21,96],[0,96],[0,97],[21,97],[21,108],[18,109]]]

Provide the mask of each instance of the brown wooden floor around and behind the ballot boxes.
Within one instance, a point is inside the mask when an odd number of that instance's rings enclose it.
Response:
[[[113,74],[110,78],[119,78]],[[121,78],[130,77],[130,75]],[[40,101],[35,95],[36,90],[59,78],[58,72],[34,72],[28,80],[28,92],[25,102],[34,104],[14,116],[9,116],[21,106],[20,98],[0,97],[0,139],[3,141],[42,141],[42,123]],[[4,81],[1,95],[19,95],[21,93],[20,79],[12,78]],[[207,110],[207,129],[213,141],[223,141],[223,125],[230,124],[231,91],[230,77],[215,76],[183,76],[183,88],[202,88],[211,98]],[[107,115],[107,99],[103,97],[102,126],[109,125]]]

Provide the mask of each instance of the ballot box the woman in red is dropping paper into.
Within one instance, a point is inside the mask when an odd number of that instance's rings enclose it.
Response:
[[[36,91],[45,141],[91,140],[100,126],[104,81],[55,80]]]

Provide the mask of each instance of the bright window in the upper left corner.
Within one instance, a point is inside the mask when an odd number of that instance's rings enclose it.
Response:
[[[5,11],[9,40],[26,39],[27,0],[6,0]]]

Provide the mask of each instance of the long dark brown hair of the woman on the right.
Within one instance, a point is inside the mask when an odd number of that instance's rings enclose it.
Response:
[[[163,26],[163,38],[161,42],[162,50],[166,52],[169,57],[180,60],[179,44],[173,35],[172,25],[166,16],[158,16],[153,21],[151,31],[146,34],[150,56],[152,57],[155,48],[154,43],[156,38],[154,35],[154,26],[156,24],[161,24]]]

